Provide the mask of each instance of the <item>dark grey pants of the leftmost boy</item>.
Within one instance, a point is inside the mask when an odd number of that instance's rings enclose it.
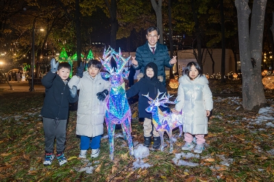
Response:
[[[56,138],[56,151],[62,153],[66,142],[67,120],[55,120],[43,117],[43,128],[45,133],[45,151],[53,153],[54,140]]]

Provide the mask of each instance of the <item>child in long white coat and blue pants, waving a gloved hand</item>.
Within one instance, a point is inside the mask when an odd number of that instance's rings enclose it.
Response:
[[[84,65],[80,64],[77,74],[69,81],[70,88],[77,86],[80,90],[76,125],[76,134],[81,138],[79,158],[86,158],[89,148],[92,149],[90,157],[98,157],[100,152],[105,96],[110,87],[110,82],[101,77],[101,66],[98,60],[90,60],[88,71],[84,72]]]

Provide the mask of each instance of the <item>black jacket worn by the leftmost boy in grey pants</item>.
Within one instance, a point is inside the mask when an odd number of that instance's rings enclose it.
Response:
[[[51,71],[42,77],[42,85],[46,88],[46,96],[41,115],[45,118],[66,120],[69,117],[69,103],[78,101],[78,95],[76,94],[73,98],[68,84],[65,84],[59,75]]]

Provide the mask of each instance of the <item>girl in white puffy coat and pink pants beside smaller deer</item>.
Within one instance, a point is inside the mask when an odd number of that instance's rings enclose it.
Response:
[[[191,151],[194,148],[193,136],[197,145],[195,153],[204,149],[204,135],[208,133],[208,116],[213,108],[212,93],[208,87],[208,79],[201,73],[197,62],[190,62],[184,69],[184,75],[179,78],[178,103],[173,112],[184,114],[184,141],[182,150]]]

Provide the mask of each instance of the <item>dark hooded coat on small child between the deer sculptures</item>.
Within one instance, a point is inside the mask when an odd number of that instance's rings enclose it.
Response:
[[[149,93],[149,97],[151,99],[155,99],[158,90],[160,92],[166,92],[166,88],[164,85],[157,79],[157,65],[153,62],[150,62],[147,64],[147,66],[151,66],[153,68],[154,76],[152,78],[147,77],[147,74],[140,79],[137,83],[135,83],[129,90],[126,91],[127,98],[135,96],[136,94],[139,94],[139,100],[138,100],[138,109],[139,109],[139,117],[140,118],[152,118],[152,114],[145,111],[147,107],[149,107],[149,99],[147,97],[142,96],[142,94]],[[147,70],[147,66],[145,66],[145,70]],[[160,95],[162,96],[162,95]],[[159,96],[159,97],[160,97]]]

